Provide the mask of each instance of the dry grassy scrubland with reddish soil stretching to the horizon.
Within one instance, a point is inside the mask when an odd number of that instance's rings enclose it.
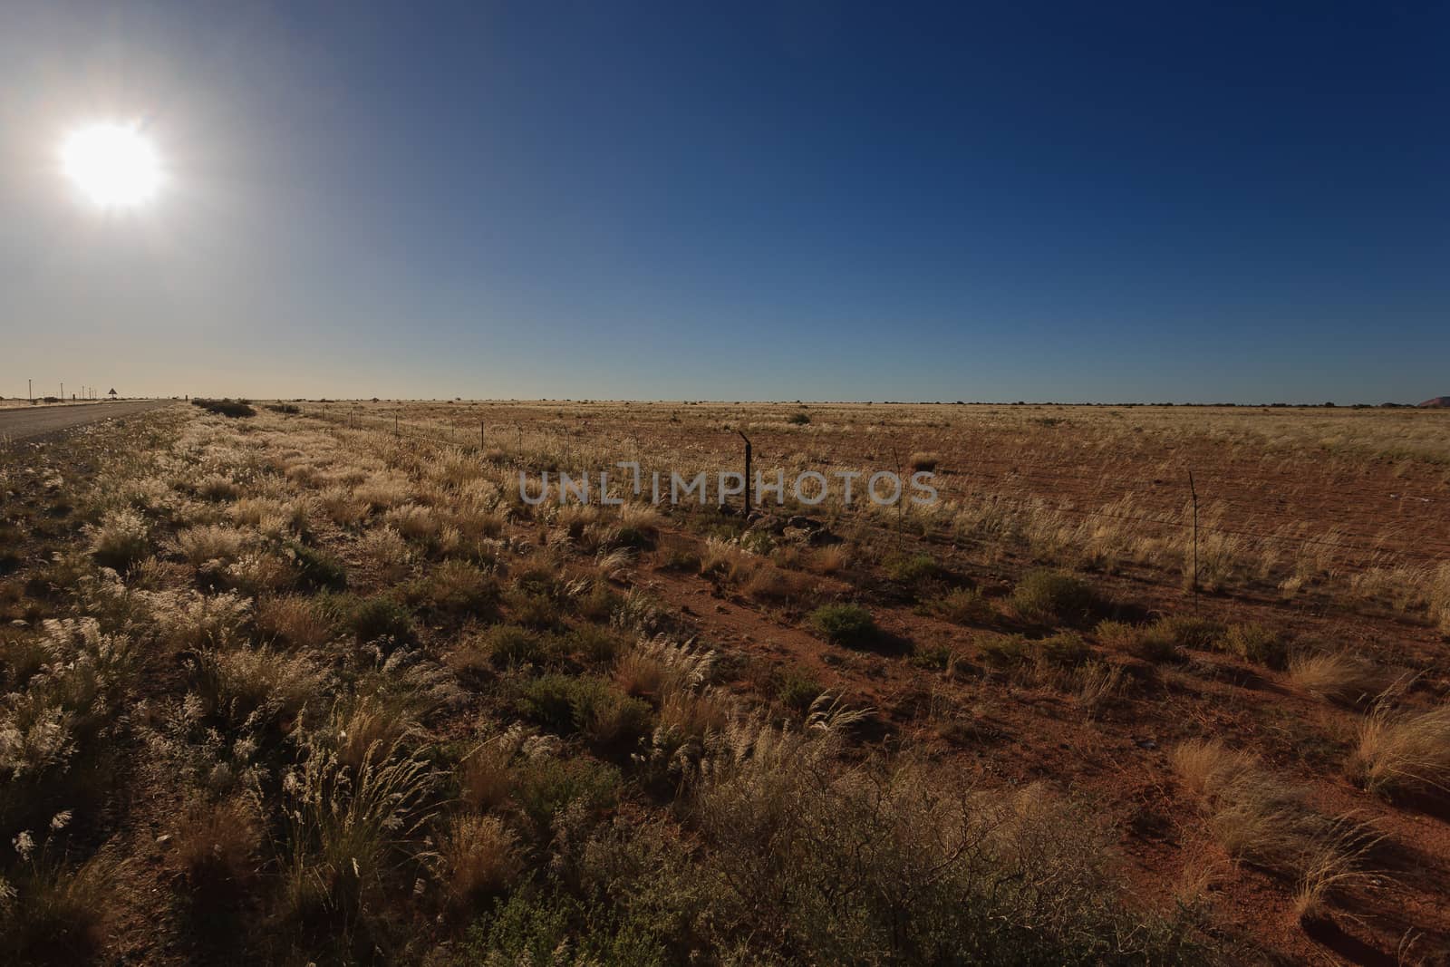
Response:
[[[1450,950],[1443,413],[290,409],[0,452],[22,961]],[[942,500],[519,499],[737,429]]]

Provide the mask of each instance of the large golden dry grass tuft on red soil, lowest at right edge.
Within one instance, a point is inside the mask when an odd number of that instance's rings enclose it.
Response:
[[[1450,793],[1450,705],[1401,713],[1376,705],[1360,723],[1350,773],[1373,793]]]

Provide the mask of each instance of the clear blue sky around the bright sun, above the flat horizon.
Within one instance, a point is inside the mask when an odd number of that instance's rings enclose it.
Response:
[[[1450,393],[1444,3],[4,0],[0,65],[4,396]]]

